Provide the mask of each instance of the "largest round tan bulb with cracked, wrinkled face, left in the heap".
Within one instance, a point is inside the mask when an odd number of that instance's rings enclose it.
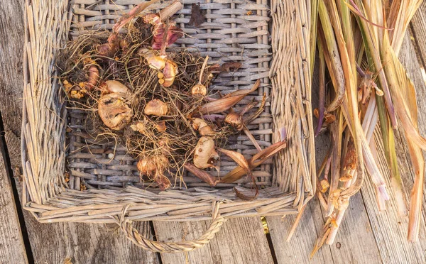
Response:
[[[105,126],[121,130],[130,123],[133,111],[126,103],[126,94],[112,93],[99,99],[98,114]]]

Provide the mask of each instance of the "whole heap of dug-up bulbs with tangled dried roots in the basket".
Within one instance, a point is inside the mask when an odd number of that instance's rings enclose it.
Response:
[[[219,170],[222,153],[225,160],[238,165],[223,182],[247,175],[256,187],[253,199],[258,189],[251,171],[285,147],[283,141],[262,150],[247,128],[263,111],[266,97],[250,114],[259,102],[252,101],[238,112],[233,109],[260,82],[252,89],[214,97],[209,82],[215,70],[207,65],[209,58],[166,50],[182,36],[180,28],[173,21],[162,21],[157,13],[138,17],[152,2],[136,6],[119,19],[109,36],[82,35],[67,45],[58,68],[68,106],[87,114],[84,131],[92,141],[126,146],[127,153],[138,160],[141,181],[168,189],[170,179],[183,182],[187,170],[214,186],[222,180],[204,169]],[[123,28],[127,32],[119,33]],[[226,69],[238,67],[241,64]],[[226,150],[229,138],[241,131],[259,150],[251,160]]]

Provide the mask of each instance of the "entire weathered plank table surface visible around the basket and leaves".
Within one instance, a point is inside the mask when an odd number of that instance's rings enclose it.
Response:
[[[189,253],[143,251],[114,225],[39,224],[19,203],[23,3],[24,0],[0,1],[0,131],[4,131],[0,138],[0,263],[426,263],[425,197],[420,239],[409,243],[408,219],[398,216],[394,199],[387,203],[386,211],[378,211],[368,177],[361,192],[351,199],[334,245],[324,246],[312,260],[310,251],[324,221],[324,212],[316,199],[307,205],[288,243],[285,239],[294,216],[266,217],[268,234],[263,232],[259,218],[230,219],[211,243]],[[426,57],[425,15],[423,3],[400,51],[400,59],[417,88],[422,135],[426,135],[426,86],[421,72]],[[403,134],[395,131],[395,137],[405,198],[409,199],[412,167]],[[318,160],[324,157],[327,144],[326,139],[317,138]],[[386,162],[379,163],[390,186]],[[199,236],[208,224],[209,221],[142,222],[136,227],[158,240],[181,241]]]

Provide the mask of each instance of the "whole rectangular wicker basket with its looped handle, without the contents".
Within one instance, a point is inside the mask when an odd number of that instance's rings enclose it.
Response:
[[[109,30],[123,13],[141,0],[26,1],[26,43],[23,94],[23,207],[40,222],[90,222],[121,226],[131,241],[151,251],[190,251],[208,243],[226,218],[297,214],[315,194],[315,148],[310,104],[309,0],[206,0],[206,21],[187,26],[191,4],[184,2],[175,21],[187,34],[178,45],[209,55],[212,62],[237,60],[237,72],[222,73],[213,89],[226,93],[246,89],[261,79],[258,94],[268,95],[265,112],[249,129],[265,147],[287,131],[288,147],[254,172],[261,191],[252,201],[236,197],[233,188],[249,180],[209,187],[187,175],[160,192],[143,185],[136,161],[123,147],[99,144],[84,132],[84,114],[66,107],[56,76],[55,55],[66,41],[89,31]],[[170,3],[169,3],[170,4]],[[269,6],[271,4],[271,6]],[[161,9],[167,3],[155,4]],[[240,104],[247,104],[243,100]],[[278,130],[278,129],[277,129]],[[239,136],[234,148],[256,153]],[[114,160],[109,154],[116,152]],[[224,165],[224,164],[222,164]],[[222,170],[230,170],[231,163]],[[149,241],[132,221],[193,221],[213,219],[195,241]]]

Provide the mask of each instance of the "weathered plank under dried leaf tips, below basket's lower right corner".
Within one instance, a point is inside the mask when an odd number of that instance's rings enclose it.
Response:
[[[316,140],[318,165],[327,153],[327,142],[324,136]],[[320,202],[312,199],[288,243],[285,240],[295,216],[285,216],[283,221],[278,217],[266,217],[278,263],[287,263],[290,259],[300,263],[382,263],[360,194],[351,198],[334,244],[324,245],[310,260],[310,252],[322,230],[324,214]]]

